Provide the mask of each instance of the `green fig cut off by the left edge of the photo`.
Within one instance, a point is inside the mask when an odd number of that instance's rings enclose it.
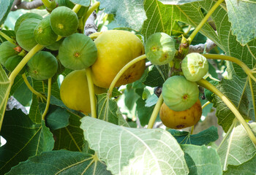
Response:
[[[8,58],[14,55],[18,55],[18,52],[15,51],[15,44],[12,44],[11,42],[3,42],[0,45],[0,63],[1,65],[5,66],[5,62]]]

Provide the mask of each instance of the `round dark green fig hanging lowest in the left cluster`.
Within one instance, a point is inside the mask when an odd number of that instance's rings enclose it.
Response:
[[[29,75],[36,80],[53,77],[58,69],[58,62],[50,52],[39,51],[27,63]]]

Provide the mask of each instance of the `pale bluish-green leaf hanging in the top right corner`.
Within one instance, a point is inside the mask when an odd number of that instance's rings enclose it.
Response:
[[[256,1],[226,0],[228,19],[238,42],[245,45],[256,39]]]

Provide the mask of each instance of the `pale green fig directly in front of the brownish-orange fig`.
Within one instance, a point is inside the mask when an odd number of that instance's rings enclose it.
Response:
[[[188,81],[184,76],[168,78],[162,86],[162,98],[173,111],[189,109],[197,101],[199,90],[195,82]]]

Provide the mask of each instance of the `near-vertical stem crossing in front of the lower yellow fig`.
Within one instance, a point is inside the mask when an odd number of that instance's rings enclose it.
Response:
[[[91,117],[97,118],[94,82],[92,82],[92,78],[91,78],[91,67],[86,69],[86,77],[88,82],[89,96],[90,96],[90,103],[91,103]]]

